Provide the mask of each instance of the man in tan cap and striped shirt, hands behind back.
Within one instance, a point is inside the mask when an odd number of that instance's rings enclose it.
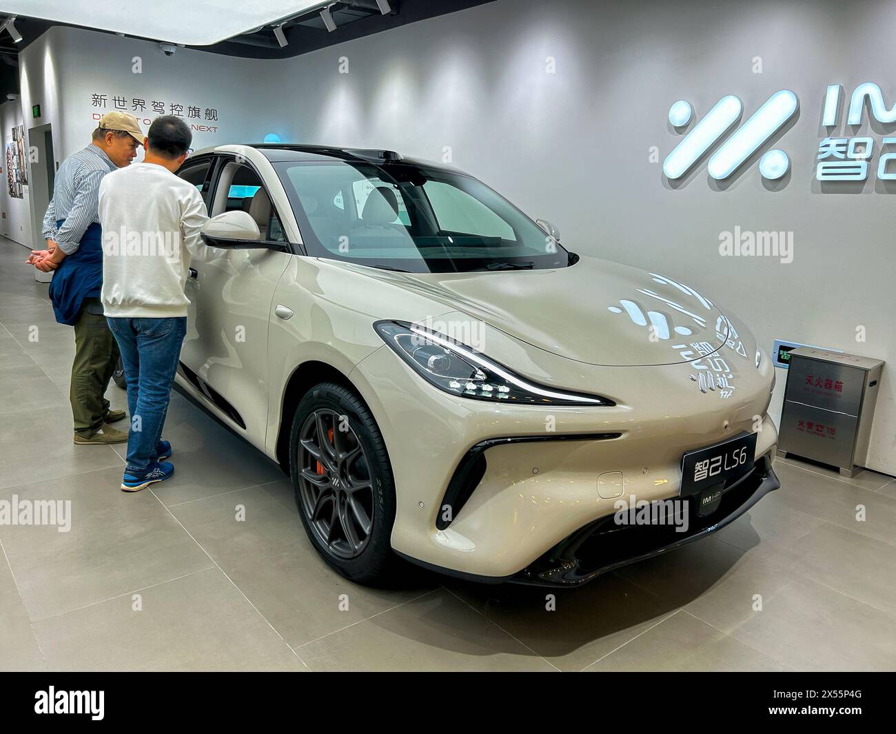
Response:
[[[90,145],[66,158],[56,172],[53,198],[44,217],[46,250],[28,262],[53,272],[49,296],[56,321],[74,327],[74,361],[69,399],[75,444],[122,444],[127,432],[109,423],[125,418],[109,410],[106,390],[118,363],[118,347],[99,301],[102,288],[102,236],[99,184],[137,155],[143,133],[136,118],[110,112],[99,120]]]

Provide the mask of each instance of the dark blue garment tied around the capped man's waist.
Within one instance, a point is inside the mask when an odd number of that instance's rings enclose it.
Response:
[[[61,227],[65,220],[56,222]],[[84,298],[99,298],[103,287],[102,229],[96,222],[84,232],[81,244],[53,272],[49,296],[59,324],[73,326]]]

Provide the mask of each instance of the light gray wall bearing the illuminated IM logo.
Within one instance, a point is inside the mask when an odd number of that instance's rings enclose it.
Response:
[[[883,51],[896,4],[596,5],[496,0],[297,56],[280,71],[282,119],[297,142],[450,158],[553,220],[573,250],[704,290],[767,352],[782,338],[888,360],[869,463],[896,473],[896,194],[874,175],[882,135],[896,126],[847,128],[842,109],[861,82],[896,103],[896,64]],[[844,91],[828,133],[831,84]],[[663,177],[682,137],[668,123],[673,102],[687,100],[699,119],[734,94],[743,122],[779,90],[800,103],[771,141],[791,160],[782,182],[763,183],[754,159],[724,185],[705,160],[679,183]],[[814,181],[826,134],[874,137],[864,186]],[[792,262],[719,253],[726,237],[767,231],[792,241]]]

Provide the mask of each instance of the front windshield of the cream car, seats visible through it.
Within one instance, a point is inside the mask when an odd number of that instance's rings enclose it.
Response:
[[[566,267],[569,254],[477,179],[407,162],[275,164],[308,255],[406,272]]]

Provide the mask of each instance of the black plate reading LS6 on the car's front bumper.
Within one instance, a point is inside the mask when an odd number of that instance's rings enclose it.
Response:
[[[698,512],[712,512],[721,490],[753,471],[756,434],[744,433],[720,444],[689,451],[681,460],[681,496],[698,497]]]

